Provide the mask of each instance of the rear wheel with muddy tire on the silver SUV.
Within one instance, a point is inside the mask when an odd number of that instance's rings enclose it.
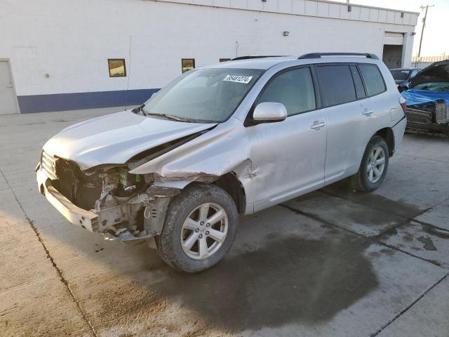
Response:
[[[377,172],[380,171],[381,165],[377,165],[377,163],[380,163],[382,161],[376,161],[375,168],[377,169],[377,171],[375,171],[375,169],[373,168],[374,161],[372,154],[374,154],[375,150],[379,151],[376,153],[380,153],[380,157],[382,156],[383,151],[384,166],[380,175]],[[380,157],[378,157],[378,159],[380,159]],[[366,150],[363,154],[358,172],[354,174],[354,176],[351,176],[351,187],[354,190],[360,192],[371,192],[373,190],[376,190],[377,187],[382,185],[382,182],[384,181],[385,175],[387,174],[388,162],[389,150],[387,142],[385,142],[384,138],[380,136],[373,136],[368,142],[368,145],[366,145]],[[373,171],[373,176],[371,176],[370,171]]]

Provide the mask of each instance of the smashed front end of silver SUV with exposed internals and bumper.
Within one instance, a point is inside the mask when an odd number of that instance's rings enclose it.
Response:
[[[131,174],[128,165],[81,171],[74,161],[42,152],[39,190],[69,222],[107,239],[128,241],[160,234],[168,203],[180,192],[154,185],[157,174]]]

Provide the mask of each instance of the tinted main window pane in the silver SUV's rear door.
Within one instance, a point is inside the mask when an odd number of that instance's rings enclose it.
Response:
[[[356,90],[349,65],[321,65],[316,67],[320,80],[323,107],[356,100]]]

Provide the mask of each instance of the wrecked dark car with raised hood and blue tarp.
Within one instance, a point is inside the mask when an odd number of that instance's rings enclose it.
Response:
[[[407,130],[449,136],[449,60],[424,68],[403,91]]]

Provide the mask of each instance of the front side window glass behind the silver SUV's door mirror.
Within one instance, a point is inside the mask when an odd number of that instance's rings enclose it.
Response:
[[[257,101],[263,102],[282,103],[288,116],[314,110],[315,91],[310,69],[288,70],[276,76]]]

